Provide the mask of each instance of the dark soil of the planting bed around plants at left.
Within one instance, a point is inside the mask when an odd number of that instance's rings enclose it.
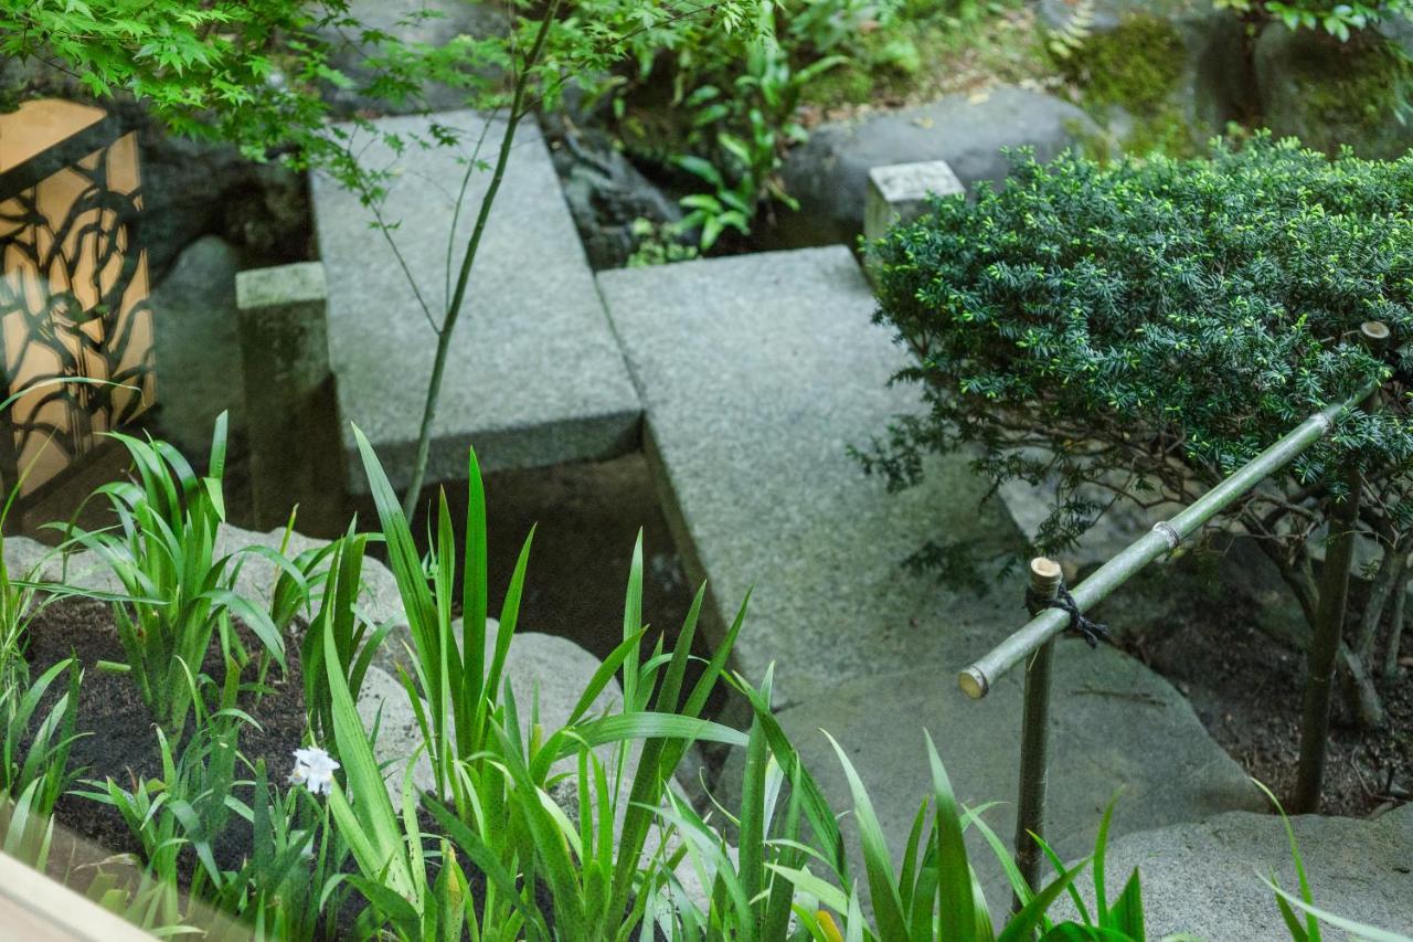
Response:
[[[257,651],[254,635],[237,625],[237,635],[247,651]],[[117,781],[131,791],[140,778],[161,777],[161,752],[157,728],[151,714],[137,696],[137,689],[124,673],[99,670],[97,661],[126,662],[117,629],[109,605],[97,601],[68,600],[45,608],[31,624],[28,661],[31,675],[37,675],[69,653],[78,656],[83,666],[83,683],[79,687],[78,728],[82,735],[73,744],[71,764],[83,769],[81,781]],[[291,752],[300,745],[305,728],[304,675],[295,645],[290,645],[290,670],[280,673],[271,668],[266,678],[267,693],[256,702],[254,693],[242,694],[240,706],[256,716],[260,726],[246,726],[240,731],[242,755],[254,762],[266,761],[271,781],[280,781],[292,768]],[[211,646],[202,670],[212,678],[223,676],[220,646]],[[253,680],[254,666],[249,669]],[[59,693],[62,683],[49,689],[49,700]],[[249,769],[237,764],[239,778],[249,778]],[[82,785],[81,785],[82,788]],[[123,822],[117,809],[100,802],[65,795],[59,799],[55,818],[62,827],[82,835],[110,853],[136,853],[138,844]],[[212,847],[222,866],[235,867],[250,853],[250,833],[235,825]],[[57,854],[57,866],[69,861]]]

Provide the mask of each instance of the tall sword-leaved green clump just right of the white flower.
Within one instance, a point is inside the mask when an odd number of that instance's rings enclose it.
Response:
[[[404,672],[401,679],[435,779],[435,791],[424,801],[455,850],[502,890],[476,901],[478,908],[468,911],[466,919],[482,929],[520,926],[530,938],[547,938],[533,892],[538,878],[551,890],[561,938],[620,938],[620,928],[643,918],[649,900],[642,891],[643,847],[666,782],[688,744],[745,741],[735,730],[701,719],[742,618],[690,690],[684,679],[705,590],[698,593],[675,648],[664,652],[658,641],[653,656],[643,662],[640,645],[647,629],[642,622],[640,540],[625,595],[622,642],[595,673],[565,727],[544,730],[537,704],[521,717],[504,679],[530,539],[506,591],[495,644],[487,648],[485,492],[475,453],[469,457],[465,550],[458,559],[458,539],[442,494],[431,549],[422,557],[376,455],[362,433],[356,437],[413,636],[413,675]],[[463,625],[459,644],[451,614],[458,574]],[[449,915],[441,912],[445,900],[430,883],[414,839],[417,795],[410,772],[400,819],[353,710],[346,663],[326,653],[343,651],[339,656],[345,658],[353,648],[341,649],[332,621],[325,621],[324,634],[332,728],[346,769],[346,785],[335,789],[331,809],[353,849],[362,876],[356,885],[372,904],[367,919],[370,926],[387,921],[401,938],[427,938],[420,934],[430,925],[447,925]],[[592,706],[619,672],[622,711],[592,716]],[[602,747],[612,748],[606,761],[595,751]],[[630,748],[637,758],[632,777],[626,774]],[[584,808],[578,825],[550,796],[564,778],[555,771],[564,760],[578,764],[575,784]],[[615,822],[620,822],[617,835]],[[451,850],[444,849],[441,859],[451,860]],[[373,890],[374,884],[391,895]]]

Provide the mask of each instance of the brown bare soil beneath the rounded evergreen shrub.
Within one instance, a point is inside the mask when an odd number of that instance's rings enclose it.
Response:
[[[1228,570],[1231,571],[1231,570]],[[1193,704],[1212,738],[1283,801],[1296,782],[1304,652],[1262,629],[1269,601],[1249,583],[1186,588],[1169,580],[1161,617],[1125,627],[1121,646],[1167,678]],[[1173,594],[1177,590],[1177,594]],[[1358,594],[1348,624],[1358,624]],[[1132,608],[1129,611],[1133,611]],[[1108,607],[1112,622],[1122,610]],[[1118,628],[1119,625],[1115,625]],[[1386,720],[1365,730],[1337,693],[1325,760],[1325,815],[1362,818],[1413,798],[1413,641],[1405,634],[1393,680],[1376,680]]]

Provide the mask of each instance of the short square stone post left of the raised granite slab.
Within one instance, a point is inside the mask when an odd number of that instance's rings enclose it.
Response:
[[[326,300],[318,262],[236,274],[257,529],[284,525],[295,504],[302,532],[343,523],[345,461]]]

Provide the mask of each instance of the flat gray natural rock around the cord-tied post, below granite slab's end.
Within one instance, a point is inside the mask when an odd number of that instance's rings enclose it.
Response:
[[[931,788],[923,730],[931,733],[958,801],[972,808],[1002,802],[985,820],[1010,843],[1020,714],[1016,675],[975,702],[958,690],[951,672],[926,668],[841,683],[827,696],[783,710],[779,720],[835,810],[853,805],[838,757],[820,730],[839,741],[897,857]],[[1064,857],[1092,851],[1104,808],[1119,789],[1112,835],[1262,808],[1260,793],[1207,735],[1187,700],[1113,648],[1089,651],[1078,639],[1060,642],[1050,735],[1046,840]],[[739,796],[739,765],[733,755],[718,798]],[[845,836],[855,866],[862,866],[852,815]],[[999,915],[1010,900],[1005,874],[975,830],[968,847],[992,912]]]

